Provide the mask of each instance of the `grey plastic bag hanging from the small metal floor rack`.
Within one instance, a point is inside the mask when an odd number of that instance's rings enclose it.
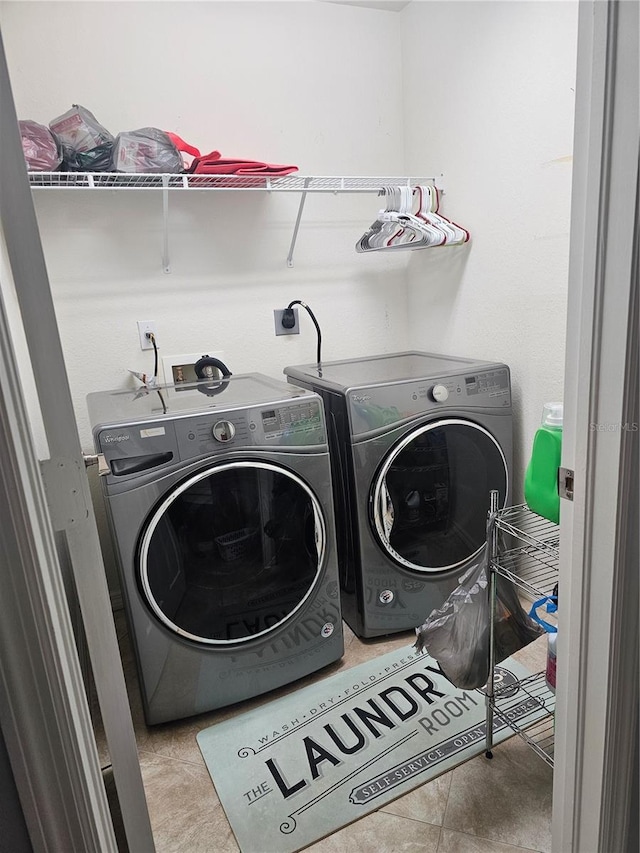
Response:
[[[415,648],[440,664],[456,687],[484,687],[489,677],[491,608],[488,546],[460,578],[445,603],[416,628]],[[531,643],[543,633],[525,613],[513,584],[496,577],[494,620],[495,662]]]

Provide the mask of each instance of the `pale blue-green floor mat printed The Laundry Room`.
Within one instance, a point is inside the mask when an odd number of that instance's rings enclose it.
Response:
[[[511,658],[496,667],[502,688],[529,674]],[[547,713],[515,687],[510,704],[514,722]],[[495,743],[512,734],[494,718]],[[197,741],[242,853],[294,853],[482,753],[484,695],[454,687],[407,646]]]

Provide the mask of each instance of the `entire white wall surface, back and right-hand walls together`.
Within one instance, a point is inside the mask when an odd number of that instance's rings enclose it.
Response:
[[[203,152],[308,175],[444,173],[460,248],[356,254],[375,195],[39,191],[38,221],[83,444],[85,396],[162,354],[222,351],[234,373],[415,347],[512,368],[516,497],[542,403],[562,393],[577,2],[0,3],[19,117],[81,103],[113,133],[153,125]],[[95,488],[95,484],[94,484]],[[98,511],[99,513],[99,511]],[[109,543],[104,536],[105,559]],[[111,577],[111,583],[114,583]]]

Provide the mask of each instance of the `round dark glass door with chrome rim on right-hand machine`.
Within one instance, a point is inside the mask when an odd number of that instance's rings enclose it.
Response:
[[[373,527],[398,563],[420,572],[460,566],[485,543],[489,492],[507,495],[495,438],[470,421],[442,420],[405,436],[373,484]]]

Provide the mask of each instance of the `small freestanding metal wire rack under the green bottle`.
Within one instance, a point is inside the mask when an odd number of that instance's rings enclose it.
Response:
[[[559,528],[532,512],[525,504],[498,510],[497,492],[491,493],[489,524],[489,595],[491,601],[486,755],[492,757],[493,719],[498,717],[519,735],[548,765],[554,763],[555,695],[545,673],[534,673],[515,685],[495,684],[493,623],[496,579],[502,576],[531,601],[551,595],[558,579]],[[554,623],[555,615],[545,615]],[[522,708],[528,711],[522,712]]]

